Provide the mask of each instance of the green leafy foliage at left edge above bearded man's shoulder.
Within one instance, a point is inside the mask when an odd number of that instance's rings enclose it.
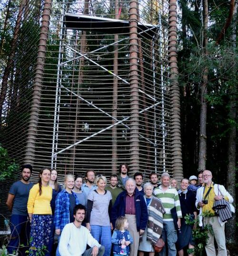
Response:
[[[19,165],[10,159],[7,149],[0,145],[0,181],[4,181],[6,178],[13,178],[18,169]]]

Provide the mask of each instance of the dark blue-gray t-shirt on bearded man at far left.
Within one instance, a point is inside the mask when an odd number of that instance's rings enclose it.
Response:
[[[9,193],[12,195],[15,195],[13,206],[12,206],[12,212],[11,214],[18,214],[27,216],[27,201],[29,197],[30,189],[32,188],[34,184],[29,183],[25,184],[22,181],[17,181],[12,184]]]

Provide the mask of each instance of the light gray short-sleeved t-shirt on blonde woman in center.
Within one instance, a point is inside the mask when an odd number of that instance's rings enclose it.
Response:
[[[107,191],[104,195],[100,195],[95,191],[91,191],[89,193],[88,200],[93,202],[90,215],[90,225],[110,225],[108,208],[111,199],[110,191]]]

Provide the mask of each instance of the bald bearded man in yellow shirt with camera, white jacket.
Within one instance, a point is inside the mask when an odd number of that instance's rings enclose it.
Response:
[[[205,170],[202,173],[202,178],[205,186],[200,187],[197,191],[196,206],[200,210],[199,214],[199,226],[202,224],[210,224],[214,231],[214,234],[208,232],[207,245],[205,246],[206,253],[209,256],[216,256],[216,250],[214,246],[214,236],[218,244],[218,256],[227,256],[226,238],[225,238],[225,222],[221,222],[220,218],[215,215],[212,209],[216,200],[225,199],[229,203],[233,202],[232,196],[226,191],[222,185],[214,184],[212,182],[211,171]],[[234,211],[234,207],[230,204],[231,210]],[[209,217],[205,216],[202,223],[202,213],[206,211],[210,212]]]

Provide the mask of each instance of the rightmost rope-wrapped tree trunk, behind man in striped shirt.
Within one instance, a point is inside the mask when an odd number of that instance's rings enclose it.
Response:
[[[180,92],[177,65],[177,4],[169,0],[169,67],[171,91],[172,172],[175,179],[183,178],[182,143],[180,126]]]

